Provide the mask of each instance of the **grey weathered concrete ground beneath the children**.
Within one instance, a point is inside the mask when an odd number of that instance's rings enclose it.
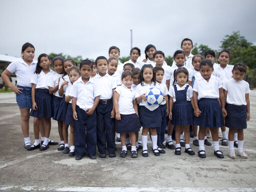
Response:
[[[121,145],[116,142],[115,158],[97,154],[96,160],[84,157],[76,161],[57,151],[57,146],[50,145],[45,151],[24,149],[15,95],[0,93],[0,191],[256,191],[255,109],[256,91],[252,90],[251,119],[244,131],[248,159],[229,158],[228,147],[221,145],[223,159],[213,155],[213,146],[205,146],[205,159],[189,156],[184,147],[181,155],[166,148],[160,156],[149,150],[145,158],[140,150],[138,158],[131,158],[130,152],[121,158]],[[32,120],[29,132],[33,142]],[[50,139],[59,141],[57,123],[51,122]],[[197,146],[191,147],[198,151]]]

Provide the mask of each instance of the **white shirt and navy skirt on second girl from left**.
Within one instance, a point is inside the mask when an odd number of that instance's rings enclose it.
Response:
[[[30,83],[36,84],[35,103],[37,105],[37,110],[31,109],[30,116],[37,118],[52,117],[52,95],[49,94],[47,81],[54,73],[55,72],[51,69],[46,74],[43,72],[43,70],[41,70],[39,74],[33,73]]]

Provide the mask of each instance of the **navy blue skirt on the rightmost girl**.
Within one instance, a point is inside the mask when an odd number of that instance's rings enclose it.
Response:
[[[244,129],[247,128],[246,105],[226,104],[227,115],[225,126],[228,128]]]

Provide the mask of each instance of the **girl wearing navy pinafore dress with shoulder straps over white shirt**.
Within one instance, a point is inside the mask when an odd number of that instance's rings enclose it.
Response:
[[[180,133],[184,131],[185,152],[190,155],[194,155],[194,151],[189,145],[189,125],[191,125],[193,121],[193,90],[192,87],[187,83],[187,69],[184,67],[176,69],[174,71],[174,77],[175,80],[173,82],[173,86],[169,90],[169,119],[171,119],[171,124],[175,126],[175,154],[181,154],[179,137]]]

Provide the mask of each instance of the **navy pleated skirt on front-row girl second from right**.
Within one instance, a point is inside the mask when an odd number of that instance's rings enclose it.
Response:
[[[222,111],[216,98],[201,98],[198,100],[201,111],[199,117],[193,119],[193,124],[202,127],[220,127],[224,125]]]

